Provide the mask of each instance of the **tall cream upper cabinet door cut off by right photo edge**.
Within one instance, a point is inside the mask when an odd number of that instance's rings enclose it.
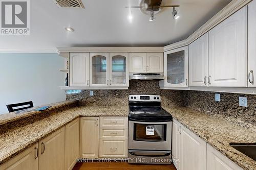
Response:
[[[256,1],[248,4],[248,87],[256,87]]]

